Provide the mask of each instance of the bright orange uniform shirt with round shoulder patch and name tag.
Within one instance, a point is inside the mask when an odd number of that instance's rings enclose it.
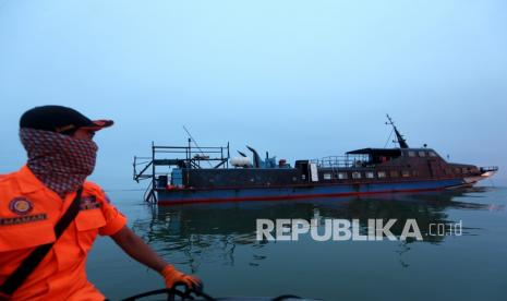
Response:
[[[26,166],[0,177],[0,284],[37,245],[55,241],[55,225],[74,197],[62,202]],[[111,236],[125,224],[100,186],[85,182],[80,213],[13,300],[104,300],[86,279],[86,255],[97,234]]]

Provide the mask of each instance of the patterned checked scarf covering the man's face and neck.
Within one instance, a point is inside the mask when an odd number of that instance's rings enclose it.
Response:
[[[29,170],[62,198],[94,171],[98,147],[90,140],[34,129],[21,129],[20,139]]]

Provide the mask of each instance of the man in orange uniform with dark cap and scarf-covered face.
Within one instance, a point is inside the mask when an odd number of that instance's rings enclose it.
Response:
[[[0,176],[0,300],[104,300],[86,278],[85,263],[97,234],[109,236],[125,253],[162,275],[167,287],[201,281],[158,256],[129,227],[126,218],[95,183],[96,131],[110,120],[92,121],[61,106],[26,111],[20,137],[28,160],[21,170]],[[55,225],[82,188],[79,214],[57,240]],[[77,203],[76,203],[77,204]],[[55,242],[13,293],[2,284],[37,246]]]

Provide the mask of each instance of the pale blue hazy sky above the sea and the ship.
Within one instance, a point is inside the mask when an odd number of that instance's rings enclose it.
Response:
[[[384,146],[386,112],[411,146],[505,169],[507,1],[0,0],[0,172],[34,106],[113,119],[106,189],[183,124],[292,162]]]

